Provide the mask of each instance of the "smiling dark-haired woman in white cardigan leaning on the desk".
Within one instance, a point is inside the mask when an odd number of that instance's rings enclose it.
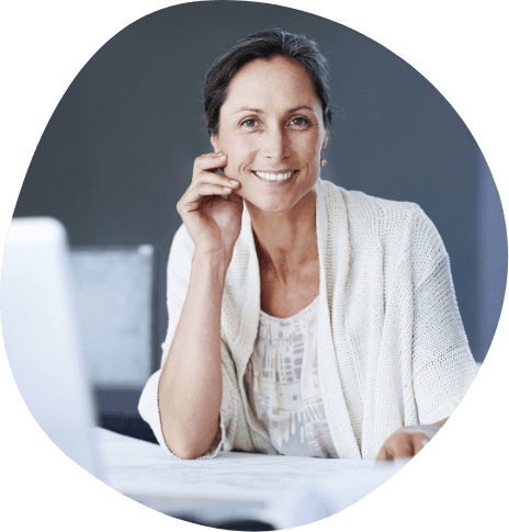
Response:
[[[207,73],[214,152],[177,206],[162,364],[139,404],[179,457],[414,456],[475,378],[432,223],[319,179],[327,76],[282,31]]]

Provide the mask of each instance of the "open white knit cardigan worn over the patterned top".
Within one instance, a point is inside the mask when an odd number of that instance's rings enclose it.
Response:
[[[477,369],[468,349],[449,256],[414,203],[346,191],[318,180],[320,263],[318,376],[339,457],[374,459],[401,426],[449,417]],[[193,242],[177,231],[168,262],[170,349],[189,284]],[[268,451],[268,433],[244,386],[260,317],[260,273],[247,208],[222,305],[223,400],[219,430],[204,457],[224,450]],[[147,382],[139,412],[171,454],[158,407],[160,370]]]

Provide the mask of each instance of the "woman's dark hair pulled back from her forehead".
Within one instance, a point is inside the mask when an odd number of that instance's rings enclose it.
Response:
[[[204,90],[206,125],[210,135],[217,135],[219,131],[219,110],[225,103],[234,76],[250,61],[271,59],[276,56],[285,57],[304,68],[309,76],[316,97],[321,102],[325,127],[327,129],[330,127],[332,111],[329,106],[329,71],[326,58],[319,52],[315,41],[304,35],[295,35],[275,29],[241,38],[218,57],[210,68]]]

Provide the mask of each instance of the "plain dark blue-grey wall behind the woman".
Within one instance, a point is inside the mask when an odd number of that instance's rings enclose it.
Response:
[[[483,154],[422,75],[365,35],[317,15],[255,2],[191,2],[129,24],[61,98],[14,216],[54,216],[71,245],[156,245],[162,342],[166,260],[181,224],[176,204],[194,158],[211,151],[202,104],[206,69],[239,37],[274,25],[315,38],[330,64],[339,112],[323,179],[425,210],[451,256],[471,348],[483,361],[508,265],[504,211]],[[159,360],[159,344],[156,352]]]

